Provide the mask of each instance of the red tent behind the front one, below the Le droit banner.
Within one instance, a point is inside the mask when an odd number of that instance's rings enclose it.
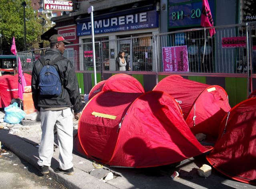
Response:
[[[228,95],[222,87],[170,75],[161,80],[153,91],[163,91],[173,96],[191,131],[194,134],[204,133],[207,140],[216,141],[220,122],[230,110]]]

